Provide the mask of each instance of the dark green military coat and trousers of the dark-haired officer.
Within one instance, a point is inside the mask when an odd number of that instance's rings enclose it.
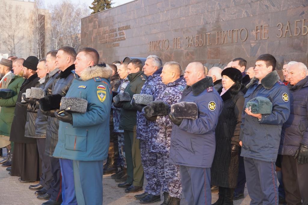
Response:
[[[131,99],[134,94],[139,94],[146,76],[142,71],[128,75],[129,84],[124,90]],[[137,110],[133,109],[130,101],[124,102],[121,109],[120,129],[124,130],[125,157],[127,164],[127,183],[142,187],[144,171],[141,164],[140,140],[136,139]]]

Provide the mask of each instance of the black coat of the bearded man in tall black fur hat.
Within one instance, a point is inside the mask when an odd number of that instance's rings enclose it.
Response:
[[[39,80],[37,73],[30,76],[23,82],[18,93],[17,102],[21,102],[22,93],[26,93],[26,89],[35,87]],[[35,144],[36,139],[25,137],[25,125],[27,121],[27,108],[22,108],[18,105],[15,107],[14,119],[12,122],[10,141],[25,144]]]

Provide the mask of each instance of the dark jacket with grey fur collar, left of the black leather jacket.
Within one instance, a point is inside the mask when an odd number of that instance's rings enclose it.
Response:
[[[59,69],[54,69],[50,73],[47,73],[46,80],[44,83],[44,91],[46,95],[52,94],[52,88],[55,87],[56,82],[59,78],[56,78],[59,75]],[[40,109],[37,110],[38,117],[35,121],[35,135],[39,136],[38,138],[46,138],[46,130],[47,130],[47,119],[50,116],[43,115]]]

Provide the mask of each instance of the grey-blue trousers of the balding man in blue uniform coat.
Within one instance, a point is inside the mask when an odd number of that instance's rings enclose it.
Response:
[[[211,205],[211,168],[180,165],[181,183],[189,205]]]

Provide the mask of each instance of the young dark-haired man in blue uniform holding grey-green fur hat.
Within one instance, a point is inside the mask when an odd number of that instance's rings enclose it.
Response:
[[[240,132],[250,204],[278,205],[275,172],[282,124],[290,115],[289,90],[275,71],[276,59],[270,54],[257,58],[255,77],[246,86]],[[254,97],[267,97],[273,104],[270,114],[252,113],[245,108]],[[260,105],[261,106],[261,105]]]

